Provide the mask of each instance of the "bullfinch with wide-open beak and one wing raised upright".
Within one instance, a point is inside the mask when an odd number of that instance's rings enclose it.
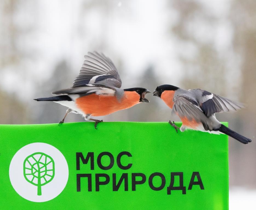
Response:
[[[141,102],[148,103],[145,98],[150,93],[145,88],[121,89],[122,81],[113,62],[102,53],[88,52],[71,88],[52,92],[54,97],[37,98],[36,101],[53,101],[68,107],[68,113],[78,113],[85,120],[99,122],[91,116],[104,116],[122,109],[128,109]]]

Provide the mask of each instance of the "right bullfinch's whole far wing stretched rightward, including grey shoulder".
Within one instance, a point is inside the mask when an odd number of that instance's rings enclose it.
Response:
[[[201,96],[198,97],[200,107],[208,117],[214,113],[236,111],[244,107],[242,103],[231,101],[228,98],[221,97],[205,90],[197,90],[201,92]]]

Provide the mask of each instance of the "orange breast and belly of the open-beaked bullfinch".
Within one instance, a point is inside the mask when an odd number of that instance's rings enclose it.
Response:
[[[140,95],[135,91],[125,91],[119,101],[115,96],[90,94],[77,98],[76,106],[92,116],[104,116],[122,109],[128,109],[138,103]]]

